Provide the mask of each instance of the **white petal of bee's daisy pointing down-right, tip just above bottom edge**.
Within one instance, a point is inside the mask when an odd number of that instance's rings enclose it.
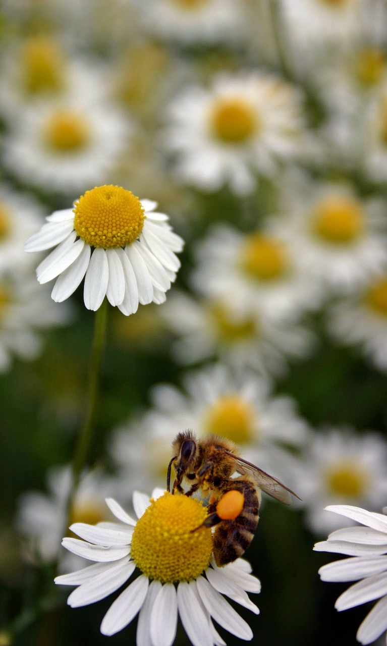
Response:
[[[222,595],[217,592],[202,576],[196,580],[200,598],[211,617],[231,634],[242,640],[251,640],[253,631],[248,623],[238,615]]]

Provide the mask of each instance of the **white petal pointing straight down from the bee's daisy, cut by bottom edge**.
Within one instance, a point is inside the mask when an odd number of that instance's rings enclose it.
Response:
[[[165,583],[156,596],[151,612],[153,646],[172,646],[178,623],[178,602],[173,583]]]

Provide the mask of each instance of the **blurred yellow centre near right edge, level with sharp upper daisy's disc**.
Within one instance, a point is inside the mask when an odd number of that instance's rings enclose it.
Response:
[[[328,242],[353,242],[364,228],[364,213],[357,200],[345,196],[328,197],[313,214],[315,233]]]

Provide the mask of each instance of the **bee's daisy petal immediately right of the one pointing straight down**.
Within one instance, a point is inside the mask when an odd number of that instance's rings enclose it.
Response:
[[[177,590],[180,619],[193,646],[213,646],[207,616],[194,594],[194,584],[180,582]]]

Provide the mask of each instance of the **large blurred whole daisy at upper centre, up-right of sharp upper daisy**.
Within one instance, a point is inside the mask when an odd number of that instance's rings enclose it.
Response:
[[[301,97],[275,76],[220,74],[209,89],[185,89],[168,114],[164,140],[176,153],[176,175],[203,191],[227,183],[251,193],[257,173],[273,174],[278,160],[298,151]]]

